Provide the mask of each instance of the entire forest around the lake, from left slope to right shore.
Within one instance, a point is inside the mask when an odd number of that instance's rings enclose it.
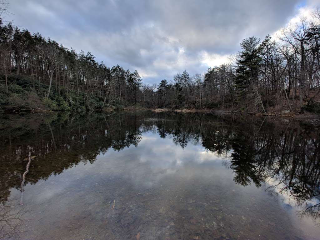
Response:
[[[244,39],[230,63],[159,84],[98,63],[40,33],[0,22],[0,109],[87,111],[168,108],[234,113],[320,112],[320,11],[276,37]]]

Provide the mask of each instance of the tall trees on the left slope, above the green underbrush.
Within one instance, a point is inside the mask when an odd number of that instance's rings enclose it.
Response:
[[[103,62],[95,61],[91,52],[77,53],[39,33],[14,28],[11,23],[2,25],[0,30],[0,61],[6,91],[7,74],[16,73],[47,84],[46,98],[55,88],[58,94],[85,92],[119,105],[137,102],[141,85],[137,70],[130,72],[119,65],[108,68]]]

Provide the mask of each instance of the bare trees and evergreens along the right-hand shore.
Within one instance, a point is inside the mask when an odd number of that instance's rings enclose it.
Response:
[[[267,35],[242,41],[231,63],[208,68],[204,75],[185,70],[158,85],[162,107],[219,108],[266,113],[270,107],[319,111],[320,12],[314,21],[283,28],[277,39]]]

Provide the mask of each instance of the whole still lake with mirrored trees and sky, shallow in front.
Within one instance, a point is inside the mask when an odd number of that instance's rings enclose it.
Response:
[[[320,239],[320,127],[254,116],[0,116],[4,239]]]

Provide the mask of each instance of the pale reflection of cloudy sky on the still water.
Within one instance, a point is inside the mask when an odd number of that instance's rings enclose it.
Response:
[[[133,239],[138,232],[147,239],[166,239],[178,236],[183,226],[190,234],[203,226],[204,232],[198,232],[204,239],[212,237],[207,229],[217,237],[230,232],[239,239],[274,239],[277,234],[279,239],[285,234],[317,239],[320,233],[263,188],[237,185],[215,153],[191,143],[182,149],[153,132],[145,133],[138,147],[109,149],[93,164],[80,163],[24,189],[29,220],[22,237],[30,239],[121,239],[126,234]],[[12,190],[12,198],[18,197],[20,192]],[[164,223],[169,228],[155,227]]]

